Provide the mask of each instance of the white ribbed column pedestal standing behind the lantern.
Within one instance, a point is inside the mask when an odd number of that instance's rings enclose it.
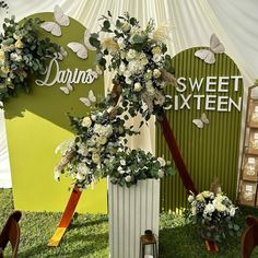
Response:
[[[139,180],[127,188],[108,179],[108,221],[109,257],[138,258],[144,231],[159,237],[160,180]]]

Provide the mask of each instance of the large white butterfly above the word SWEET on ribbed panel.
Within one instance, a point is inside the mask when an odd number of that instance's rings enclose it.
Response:
[[[225,51],[225,47],[220,42],[215,34],[211,35],[210,38],[210,49],[200,49],[195,52],[196,57],[204,60],[204,62],[212,64],[215,62],[215,55],[214,54],[222,54]]]

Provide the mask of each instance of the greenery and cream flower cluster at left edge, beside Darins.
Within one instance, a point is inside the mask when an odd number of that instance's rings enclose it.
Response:
[[[14,16],[4,19],[0,35],[0,102],[15,96],[19,91],[30,92],[28,75],[43,74],[48,58],[60,51],[49,38],[38,37],[39,19],[16,23]]]

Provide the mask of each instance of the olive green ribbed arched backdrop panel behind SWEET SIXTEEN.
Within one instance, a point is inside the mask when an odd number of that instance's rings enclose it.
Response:
[[[215,55],[214,64],[207,64],[201,59],[195,57],[195,51],[199,47],[184,50],[173,58],[175,68],[175,77],[184,78],[202,78],[204,77],[230,77],[241,75],[237,66],[225,54]],[[189,84],[184,95],[191,94]],[[175,87],[167,89],[167,94],[174,96],[178,94]],[[204,87],[200,92],[194,94],[206,95]],[[216,94],[216,93],[209,93]],[[234,91],[234,83],[231,81],[228,93],[219,93],[218,95],[228,95],[233,99],[237,99],[243,95],[243,81],[239,82],[239,91]],[[242,112],[233,107],[232,112],[211,112],[204,110],[201,104],[200,110],[197,105],[189,101],[191,109],[166,112],[169,125],[175,133],[180,152],[186,162],[187,168],[198,189],[202,191],[210,189],[214,176],[218,176],[222,186],[222,190],[230,198],[235,199],[239,138],[241,138],[241,120]],[[209,125],[204,125],[203,129],[198,129],[192,119],[200,118],[206,113]],[[156,130],[156,154],[164,155],[165,159],[172,160],[167,143],[164,140],[161,128]],[[166,178],[161,186],[161,210],[162,211],[180,211],[187,207],[187,195],[185,187],[179,178],[179,174]]]

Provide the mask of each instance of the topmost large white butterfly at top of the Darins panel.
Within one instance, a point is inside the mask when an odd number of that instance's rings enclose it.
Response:
[[[55,22],[44,22],[40,27],[51,33],[54,36],[60,37],[62,35],[60,26],[68,26],[70,24],[70,19],[58,5],[54,9],[54,17]]]

